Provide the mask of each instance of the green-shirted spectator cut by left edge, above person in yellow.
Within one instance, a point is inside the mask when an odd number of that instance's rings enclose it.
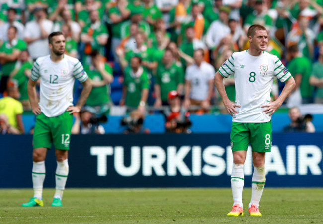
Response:
[[[7,87],[10,73],[13,71],[20,52],[27,48],[25,41],[17,39],[17,28],[10,26],[8,29],[8,40],[4,41],[0,47],[1,81],[0,93]]]

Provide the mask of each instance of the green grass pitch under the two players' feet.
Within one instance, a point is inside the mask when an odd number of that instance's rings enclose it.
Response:
[[[54,189],[44,189],[44,207],[23,208],[32,189],[0,189],[0,223],[323,223],[323,188],[265,188],[262,217],[247,207],[244,216],[227,217],[230,188],[73,189],[64,192],[63,207],[51,207]]]

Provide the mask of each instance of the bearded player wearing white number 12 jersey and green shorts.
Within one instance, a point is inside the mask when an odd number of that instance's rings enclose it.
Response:
[[[80,112],[92,84],[78,59],[64,54],[65,37],[62,32],[48,36],[50,55],[39,57],[31,69],[28,96],[32,112],[36,115],[33,135],[32,182],[34,197],[23,207],[43,206],[42,192],[45,179],[45,158],[52,143],[55,147],[57,169],[56,191],[52,206],[62,206],[63,190],[69,173],[67,161],[73,113]],[[36,95],[36,82],[40,78],[40,100]],[[75,79],[83,84],[78,103],[73,106]]]

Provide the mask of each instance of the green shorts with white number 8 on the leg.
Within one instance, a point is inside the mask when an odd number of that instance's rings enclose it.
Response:
[[[270,152],[271,121],[266,123],[237,123],[231,125],[232,151],[248,150],[251,143],[252,151]]]

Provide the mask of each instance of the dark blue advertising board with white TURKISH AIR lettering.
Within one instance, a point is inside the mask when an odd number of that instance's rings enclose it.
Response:
[[[323,134],[273,133],[268,187],[323,187]],[[32,136],[0,135],[0,188],[32,187]],[[44,187],[55,187],[54,150]],[[73,135],[67,187],[229,187],[227,134]],[[244,167],[251,186],[251,153]]]

